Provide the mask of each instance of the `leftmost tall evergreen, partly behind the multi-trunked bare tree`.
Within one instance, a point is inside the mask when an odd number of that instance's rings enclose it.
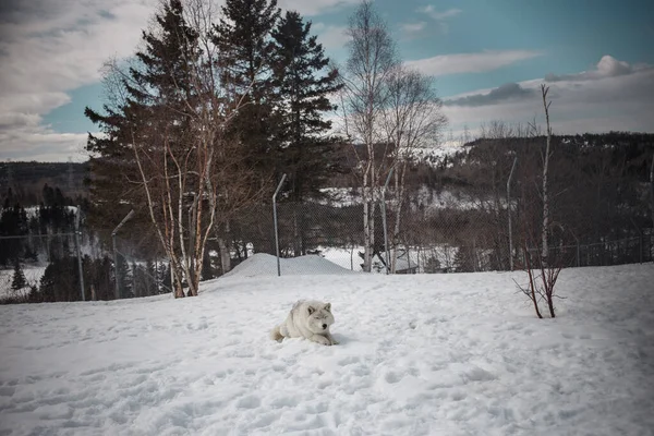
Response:
[[[192,61],[198,56],[198,35],[184,20],[181,0],[164,3],[155,22],[156,27],[143,32],[144,49],[136,53],[136,63],[126,77],[117,74],[106,78],[126,97],[105,105],[105,113],[85,109],[85,116],[104,133],[89,134],[86,145],[94,174],[89,192],[96,205],[89,216],[92,225],[120,222],[130,208],[138,211],[146,204],[144,190],[134,185],[138,168],[132,144],[148,144],[161,155],[166,146],[185,146],[190,123],[186,104],[194,98],[190,82]],[[122,207],[108,207],[118,199]],[[147,214],[136,214],[131,225],[143,225],[148,218]]]

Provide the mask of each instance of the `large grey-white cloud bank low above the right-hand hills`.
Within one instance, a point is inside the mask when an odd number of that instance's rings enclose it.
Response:
[[[548,97],[555,133],[654,132],[654,66],[631,65],[604,57],[597,65],[550,81]],[[447,99],[444,112],[455,131],[483,122],[536,122],[544,125],[543,78],[480,89]]]

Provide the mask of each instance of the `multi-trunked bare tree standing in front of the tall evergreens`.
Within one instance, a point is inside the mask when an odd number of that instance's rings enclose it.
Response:
[[[175,296],[184,296],[184,286],[187,295],[197,295],[206,244],[216,225],[259,194],[249,180],[253,171],[245,164],[245,150],[226,136],[243,98],[232,84],[220,81],[220,53],[209,36],[211,5],[203,0],[184,5],[184,32],[167,29],[167,37],[184,48],[177,53],[182,59],[161,62],[156,76],[148,64],[124,71],[113,63],[110,69],[123,85],[118,98],[123,97],[126,122],[121,131],[129,136],[138,174],[132,182],[145,195],[170,261]],[[166,85],[157,88],[153,83]],[[134,104],[134,96],[147,104]]]

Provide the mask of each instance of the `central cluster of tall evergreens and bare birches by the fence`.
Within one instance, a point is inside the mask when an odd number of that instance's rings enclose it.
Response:
[[[433,82],[403,66],[372,2],[350,19],[341,69],[311,29],[275,0],[228,0],[219,11],[170,0],[143,32],[143,49],[108,63],[107,104],[85,111],[102,132],[87,144],[92,219],[117,222],[135,209],[133,227],[170,261],[175,296],[197,294],[210,245],[220,272],[232,267],[241,215],[269,198],[282,173],[282,201],[324,196],[346,170],[343,144],[356,159],[370,270],[384,178],[393,168],[401,192],[412,149],[438,141],[446,119]]]

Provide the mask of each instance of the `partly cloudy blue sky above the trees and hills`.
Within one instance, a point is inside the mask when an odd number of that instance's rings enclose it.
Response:
[[[100,109],[102,64],[132,56],[158,0],[0,3],[0,160],[84,161],[86,106]],[[220,3],[222,0],[218,0]],[[279,0],[347,59],[360,0]],[[492,121],[554,133],[654,132],[654,8],[647,1],[375,0],[403,61],[435,77],[448,136]]]

